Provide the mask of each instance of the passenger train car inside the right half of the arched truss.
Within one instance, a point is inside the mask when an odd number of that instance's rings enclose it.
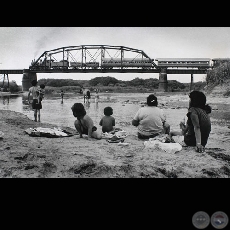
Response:
[[[152,59],[149,58],[103,58],[101,67],[106,69],[131,67],[131,68],[151,68]]]

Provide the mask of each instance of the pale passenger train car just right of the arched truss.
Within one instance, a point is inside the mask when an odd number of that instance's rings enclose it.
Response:
[[[210,68],[209,58],[158,58],[155,59],[159,67],[164,68]]]

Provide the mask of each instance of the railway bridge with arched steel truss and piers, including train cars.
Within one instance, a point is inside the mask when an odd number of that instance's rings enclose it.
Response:
[[[159,73],[159,89],[167,91],[167,74],[191,74],[192,85],[193,74],[206,74],[210,68],[210,58],[152,59],[126,46],[81,45],[45,51],[28,69],[0,70],[0,74],[4,79],[8,74],[23,74],[22,90],[27,91],[37,73]]]

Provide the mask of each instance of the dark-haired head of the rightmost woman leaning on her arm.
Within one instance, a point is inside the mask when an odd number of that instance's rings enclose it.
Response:
[[[206,96],[203,92],[194,90],[189,94],[190,102],[189,108],[197,107],[200,109],[205,109],[206,105]]]

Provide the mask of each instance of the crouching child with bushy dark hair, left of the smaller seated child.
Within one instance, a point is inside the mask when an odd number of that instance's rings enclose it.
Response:
[[[94,126],[93,120],[86,114],[84,105],[82,103],[75,103],[71,109],[73,116],[77,118],[74,126],[79,132],[80,138],[85,134],[88,135],[88,140],[91,138],[101,139],[101,135],[96,131],[97,127]]]

